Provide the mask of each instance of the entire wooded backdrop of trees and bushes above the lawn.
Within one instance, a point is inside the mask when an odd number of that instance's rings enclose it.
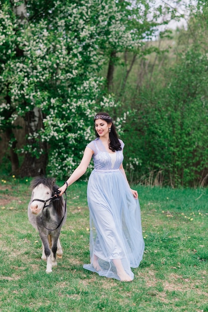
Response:
[[[65,179],[106,111],[131,183],[207,186],[207,38],[206,0],[1,0],[0,176]]]

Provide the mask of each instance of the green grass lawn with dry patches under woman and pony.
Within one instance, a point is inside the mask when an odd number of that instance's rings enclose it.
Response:
[[[0,181],[0,312],[208,311],[208,189],[134,187],[145,253],[134,280],[121,283],[83,269],[90,258],[87,183],[68,188],[63,259],[46,274],[27,219],[29,181]]]

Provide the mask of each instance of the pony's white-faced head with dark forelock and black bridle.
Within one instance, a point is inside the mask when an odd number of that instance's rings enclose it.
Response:
[[[37,176],[31,181],[32,202],[30,204],[30,210],[33,214],[40,214],[43,208],[50,204],[51,198],[58,188],[55,181],[55,178],[46,178],[44,176]],[[62,196],[53,202],[53,207],[56,209],[57,213],[61,215],[63,207]]]

